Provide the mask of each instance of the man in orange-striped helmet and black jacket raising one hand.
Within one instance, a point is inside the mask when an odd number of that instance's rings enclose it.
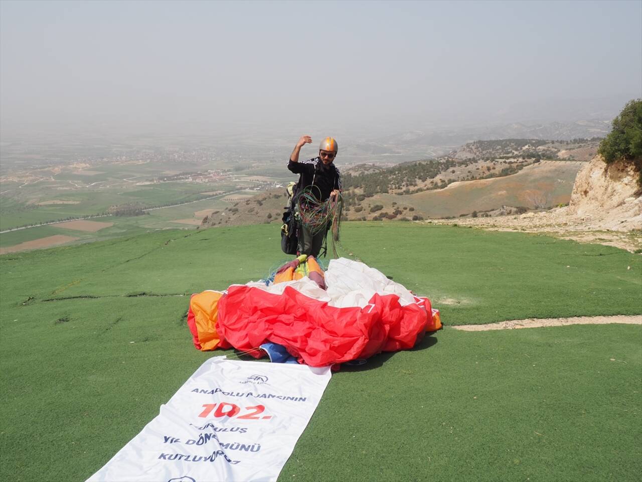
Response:
[[[327,201],[329,197],[336,199],[341,190],[341,175],[334,166],[334,157],[338,150],[336,141],[333,138],[325,138],[319,146],[319,155],[315,159],[299,162],[301,148],[312,143],[310,136],[301,136],[290,156],[288,169],[295,174],[300,174],[298,185],[299,192],[304,188],[310,188],[317,198],[317,201]],[[327,232],[328,226],[313,235],[308,228],[300,226],[299,229],[299,252],[308,256],[318,256],[321,245]]]

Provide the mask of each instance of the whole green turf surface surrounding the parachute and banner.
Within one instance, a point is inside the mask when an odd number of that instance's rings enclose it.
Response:
[[[189,294],[265,277],[279,240],[263,224],[2,256],[0,478],[100,468],[225,353],[193,348]],[[447,325],[642,315],[642,256],[401,222],[344,224],[340,254],[429,296],[446,328],[334,373],[279,480],[640,478],[641,326]]]

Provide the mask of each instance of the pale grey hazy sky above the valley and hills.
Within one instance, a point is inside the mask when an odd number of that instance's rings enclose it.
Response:
[[[642,1],[0,2],[5,131],[554,120],[641,85]]]

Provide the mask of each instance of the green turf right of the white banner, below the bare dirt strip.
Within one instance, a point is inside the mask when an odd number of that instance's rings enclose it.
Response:
[[[333,375],[279,479],[639,479],[641,334],[450,328],[380,355]]]

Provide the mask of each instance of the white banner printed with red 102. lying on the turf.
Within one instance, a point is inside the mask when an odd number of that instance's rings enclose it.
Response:
[[[87,482],[275,481],[330,368],[214,357]]]

